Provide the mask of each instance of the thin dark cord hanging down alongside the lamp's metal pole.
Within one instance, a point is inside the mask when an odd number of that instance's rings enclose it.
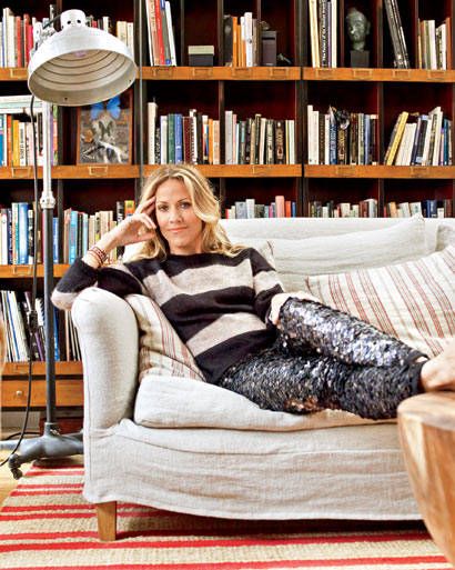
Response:
[[[33,103],[34,96],[32,94],[30,100],[30,120],[32,124],[33,132],[33,277],[32,277],[32,290],[31,290],[31,309],[28,313],[28,329],[29,329],[29,373],[28,373],[28,394],[27,394],[27,404],[26,412],[22,422],[22,429],[19,436],[19,439],[16,443],[14,449],[10,452],[10,454],[0,463],[0,467],[4,466],[9,459],[18,451],[20,444],[22,443],[23,437],[27,433],[27,427],[29,423],[30,416],[30,407],[31,407],[31,389],[32,389],[32,347],[33,347],[33,336],[38,332],[38,314],[36,310],[36,300],[37,300],[37,242],[38,242],[38,166],[37,166],[37,127],[34,122],[33,114]],[[7,438],[8,439],[8,438]]]

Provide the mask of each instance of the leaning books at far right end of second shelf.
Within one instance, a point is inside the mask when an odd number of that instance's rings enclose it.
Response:
[[[392,130],[384,164],[451,166],[452,121],[441,107],[427,114],[402,111]]]

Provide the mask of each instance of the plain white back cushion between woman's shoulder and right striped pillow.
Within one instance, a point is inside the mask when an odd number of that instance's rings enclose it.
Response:
[[[425,220],[419,216],[381,230],[270,242],[286,291],[299,290],[304,274],[382,267],[428,253]]]

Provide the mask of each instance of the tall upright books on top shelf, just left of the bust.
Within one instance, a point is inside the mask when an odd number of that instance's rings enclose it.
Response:
[[[313,68],[336,68],[337,0],[309,0]]]

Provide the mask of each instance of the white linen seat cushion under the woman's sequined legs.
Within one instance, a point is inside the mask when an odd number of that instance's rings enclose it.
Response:
[[[134,422],[146,428],[220,428],[294,431],[377,423],[353,413],[324,410],[297,416],[262,410],[247,398],[206,382],[172,376],[144,376]]]

